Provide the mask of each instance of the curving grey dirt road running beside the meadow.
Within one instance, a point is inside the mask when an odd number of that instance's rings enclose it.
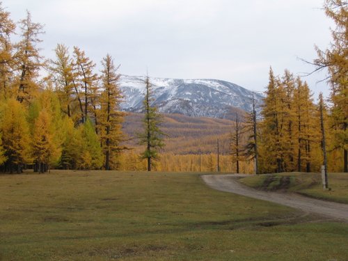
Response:
[[[202,179],[209,187],[212,187],[212,189],[236,193],[250,198],[267,200],[281,205],[286,205],[288,207],[301,209],[304,212],[320,214],[331,219],[338,219],[340,221],[348,222],[348,205],[346,204],[317,200],[314,198],[301,196],[296,193],[258,191],[237,182],[237,177],[242,176],[243,175],[233,174],[203,175]]]

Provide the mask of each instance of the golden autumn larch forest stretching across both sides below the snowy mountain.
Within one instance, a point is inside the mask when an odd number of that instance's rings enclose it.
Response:
[[[161,116],[150,93],[147,118],[122,112],[113,57],[106,54],[97,71],[84,50],[57,44],[55,58],[47,59],[40,54],[42,24],[29,12],[15,23],[0,6],[0,171],[146,171],[151,165],[157,171],[281,173],[319,172],[327,164],[347,173],[347,3],[326,0],[324,10],[335,22],[331,45],[317,48],[307,63],[327,71],[329,97],[314,100],[305,78],[270,68],[263,104],[253,101],[253,111],[236,112],[232,121]],[[150,81],[145,88],[150,91]]]

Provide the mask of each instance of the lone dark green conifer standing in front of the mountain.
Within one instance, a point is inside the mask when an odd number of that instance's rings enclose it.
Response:
[[[166,134],[159,128],[159,125],[163,121],[162,116],[158,112],[157,107],[151,104],[153,100],[149,77],[146,77],[145,85],[146,93],[143,102],[145,112],[145,117],[143,118],[144,132],[139,134],[139,144],[146,145],[141,157],[148,160],[148,171],[151,171],[154,161],[159,160],[159,150],[165,145],[163,137]]]

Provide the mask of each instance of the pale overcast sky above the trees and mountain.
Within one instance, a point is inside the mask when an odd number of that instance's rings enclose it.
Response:
[[[54,58],[58,43],[77,46],[98,66],[106,54],[128,75],[221,79],[264,91],[269,67],[296,76],[315,68],[314,46],[329,47],[323,0],[2,0],[17,22],[45,25],[40,44]],[[325,72],[303,78],[315,97]]]

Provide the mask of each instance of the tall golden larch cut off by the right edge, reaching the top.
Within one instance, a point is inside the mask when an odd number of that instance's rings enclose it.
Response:
[[[333,149],[343,152],[342,171],[348,172],[348,2],[325,0],[327,16],[335,22],[332,42],[325,51],[318,47],[314,64],[317,70],[326,68],[331,85],[331,125],[334,133]]]

